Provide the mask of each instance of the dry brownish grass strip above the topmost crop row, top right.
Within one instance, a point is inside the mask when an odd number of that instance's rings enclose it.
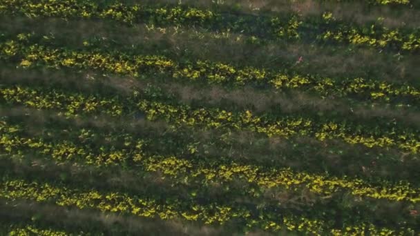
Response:
[[[149,0],[148,3],[184,3],[189,6],[211,8],[216,6],[211,1],[195,0]],[[364,24],[376,21],[379,17],[385,18],[383,25],[390,28],[408,26],[416,28],[420,21],[419,10],[403,6],[396,10],[392,6],[371,6],[363,1],[315,1],[315,0],[222,0],[216,1],[218,7],[234,8],[246,14],[279,14],[295,12],[303,16],[319,15],[323,12],[332,12],[336,19],[353,21]]]

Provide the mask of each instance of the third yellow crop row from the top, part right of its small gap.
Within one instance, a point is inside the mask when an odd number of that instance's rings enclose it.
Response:
[[[347,124],[328,123],[319,124],[311,119],[284,117],[275,121],[256,117],[248,110],[234,114],[226,110],[204,108],[191,109],[190,106],[171,106],[160,102],[140,101],[140,110],[146,113],[150,120],[165,119],[171,123],[188,126],[204,126],[207,128],[232,128],[237,130],[250,130],[271,136],[292,137],[294,135],[316,137],[325,139],[343,139],[348,144],[363,144],[367,147],[398,147],[418,153],[420,142],[417,135],[404,133],[397,135],[392,132],[388,135],[376,136],[373,133],[368,136],[367,130],[356,132]],[[352,131],[350,131],[352,130]],[[356,133],[359,133],[356,135]],[[395,136],[394,136],[395,135]]]

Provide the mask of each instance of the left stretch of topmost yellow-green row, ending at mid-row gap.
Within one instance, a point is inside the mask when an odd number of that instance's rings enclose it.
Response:
[[[27,17],[98,17],[102,19],[115,19],[125,23],[135,23],[139,14],[152,14],[160,21],[172,21],[173,23],[183,23],[184,21],[196,20],[206,21],[213,19],[215,14],[209,10],[199,10],[197,8],[146,8],[140,4],[126,6],[122,3],[114,3],[99,8],[94,1],[24,1],[6,0],[0,4],[2,13],[23,13]]]

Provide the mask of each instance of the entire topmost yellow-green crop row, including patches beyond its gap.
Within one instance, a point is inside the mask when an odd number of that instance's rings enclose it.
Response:
[[[409,5],[408,0],[376,0],[370,1],[380,5]],[[114,3],[105,7],[99,7],[95,1],[57,1],[57,0],[42,0],[42,1],[23,1],[23,0],[5,0],[0,3],[0,13],[3,14],[25,14],[27,17],[62,17],[68,19],[70,17],[82,17],[86,19],[114,19],[124,23],[133,25],[139,21],[146,21],[153,19],[153,22],[158,24],[199,24],[204,22],[211,22],[215,24],[223,24],[227,21],[218,12],[211,12],[209,10],[200,10],[198,8],[182,8],[180,6],[172,6],[171,8],[150,8],[149,6],[142,6],[134,4],[132,6],[124,5],[122,3]],[[283,17],[284,18],[284,17]],[[238,17],[237,25],[242,22],[244,18]],[[330,13],[323,14],[320,18],[325,23],[331,23],[334,19]],[[306,22],[305,22],[306,21]],[[278,17],[271,17],[265,23],[267,33],[272,37],[278,39],[301,39],[303,32],[300,32],[300,26],[303,23],[313,23],[310,19],[304,19],[294,14],[288,19],[279,19]],[[374,25],[372,25],[374,26]],[[251,26],[242,26],[238,29],[239,32],[249,30]],[[225,26],[225,30],[231,30]],[[361,27],[348,26],[342,24],[341,27],[327,29],[325,32],[318,34],[321,39],[333,39],[335,41],[342,41],[354,45],[365,45],[376,48],[383,48],[388,45],[396,44],[398,49],[407,51],[416,51],[420,47],[419,35],[400,35],[398,30],[388,30],[382,28],[383,34],[376,35],[374,33],[365,35],[362,33]],[[413,37],[413,38],[411,38]]]

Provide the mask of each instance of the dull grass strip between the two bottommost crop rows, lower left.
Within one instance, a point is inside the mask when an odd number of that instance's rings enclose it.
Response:
[[[75,231],[88,231],[95,227],[95,230],[102,230],[106,234],[122,229],[130,235],[218,235],[218,231],[213,228],[200,228],[180,222],[179,219],[145,219],[117,213],[102,213],[98,210],[63,208],[33,201],[1,201],[0,209],[3,219],[29,221],[32,215],[37,215],[44,224],[58,225]]]

